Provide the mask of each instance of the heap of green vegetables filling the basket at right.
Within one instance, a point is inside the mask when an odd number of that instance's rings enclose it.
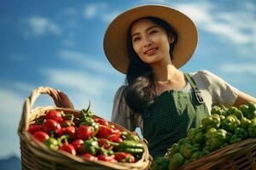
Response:
[[[229,144],[256,137],[256,104],[248,102],[238,108],[212,108],[211,116],[202,119],[201,127],[190,128],[187,138],[179,139],[166,156],[154,159],[152,170],[174,170],[184,163],[198,160]]]

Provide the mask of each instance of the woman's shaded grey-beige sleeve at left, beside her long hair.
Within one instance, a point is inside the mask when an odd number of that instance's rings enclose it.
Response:
[[[122,95],[124,88],[125,86],[120,87],[114,95],[111,122],[118,123],[130,131],[135,131],[135,114],[125,104],[125,99]]]

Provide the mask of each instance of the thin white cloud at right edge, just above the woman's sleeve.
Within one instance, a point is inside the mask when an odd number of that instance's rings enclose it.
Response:
[[[224,63],[218,66],[218,71],[224,71],[232,74],[253,74],[256,76],[256,63]]]

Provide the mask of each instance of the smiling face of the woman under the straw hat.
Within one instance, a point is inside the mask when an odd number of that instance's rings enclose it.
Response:
[[[151,20],[137,20],[131,26],[131,42],[134,51],[140,59],[151,65],[166,59],[171,61],[169,54],[173,37],[168,37],[161,26]]]

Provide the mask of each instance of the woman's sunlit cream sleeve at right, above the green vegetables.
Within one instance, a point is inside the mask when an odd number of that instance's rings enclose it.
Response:
[[[212,94],[214,105],[230,107],[235,104],[239,92],[237,88],[234,88],[210,71],[201,71],[201,74],[210,94]]]

